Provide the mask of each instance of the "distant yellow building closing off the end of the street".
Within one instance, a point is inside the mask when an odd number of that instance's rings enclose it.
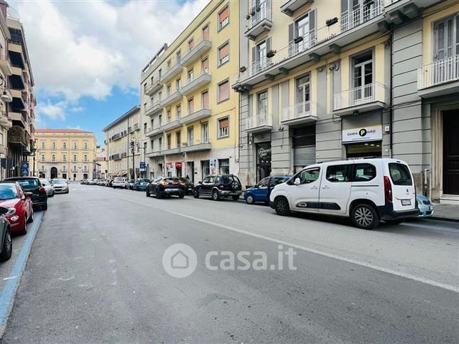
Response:
[[[80,180],[95,177],[96,138],[79,129],[36,129],[31,172],[39,177]],[[36,165],[36,166],[34,166]]]

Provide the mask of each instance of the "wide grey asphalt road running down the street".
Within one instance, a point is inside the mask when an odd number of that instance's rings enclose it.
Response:
[[[456,226],[363,231],[242,202],[75,184],[50,199],[2,341],[457,343]],[[185,278],[162,264],[178,243],[197,256]],[[231,267],[226,251],[248,251],[249,264],[263,251],[268,269],[218,268]]]

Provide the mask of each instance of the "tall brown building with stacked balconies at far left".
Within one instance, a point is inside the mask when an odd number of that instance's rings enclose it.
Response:
[[[6,14],[8,4],[0,1],[1,14]],[[33,95],[33,74],[26,45],[24,28],[18,18],[8,15],[9,40],[1,48],[11,64],[11,74],[6,83],[11,102],[7,105],[12,126],[8,130],[7,174],[20,175],[21,162],[28,161],[33,150],[36,98]],[[6,56],[7,54],[7,56]]]

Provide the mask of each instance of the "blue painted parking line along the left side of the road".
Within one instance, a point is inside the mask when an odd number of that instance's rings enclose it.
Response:
[[[11,269],[10,276],[4,278],[6,280],[5,286],[0,293],[0,338],[6,328],[6,321],[8,320],[9,313],[13,306],[14,296],[18,289],[19,282],[21,281],[20,276],[26,267],[28,254],[31,251],[33,240],[37,234],[38,228],[40,228],[41,218],[43,212],[37,212],[34,214],[33,222],[28,226],[26,241],[24,241],[19,255],[16,257],[16,263],[14,263],[13,269]]]

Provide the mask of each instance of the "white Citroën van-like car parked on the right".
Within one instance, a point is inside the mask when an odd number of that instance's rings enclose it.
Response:
[[[305,167],[270,194],[270,207],[290,212],[350,217],[363,229],[380,220],[400,223],[419,214],[413,174],[401,160],[372,158],[322,162]]]

